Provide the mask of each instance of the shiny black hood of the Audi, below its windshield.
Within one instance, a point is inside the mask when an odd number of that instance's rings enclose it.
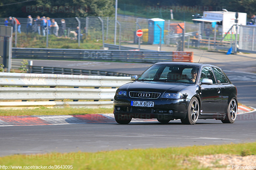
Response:
[[[143,91],[143,92],[179,92],[181,89],[191,86],[185,83],[134,81],[119,87],[119,90]]]

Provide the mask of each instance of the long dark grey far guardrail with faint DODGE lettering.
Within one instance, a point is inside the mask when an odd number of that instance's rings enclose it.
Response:
[[[157,63],[172,61],[174,52],[129,50],[84,50],[58,48],[12,48],[12,58],[46,60],[104,60]],[[176,52],[176,56],[178,53]],[[193,56],[193,54],[190,54]],[[183,56],[183,55],[180,55]]]

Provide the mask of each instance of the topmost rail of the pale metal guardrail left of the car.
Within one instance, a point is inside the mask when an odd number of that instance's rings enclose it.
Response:
[[[0,72],[0,85],[7,86],[119,87],[128,82],[129,77]]]

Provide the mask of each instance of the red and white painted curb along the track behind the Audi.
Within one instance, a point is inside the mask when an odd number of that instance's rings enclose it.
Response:
[[[255,108],[238,106],[237,114],[251,113],[254,111],[256,111]],[[132,119],[131,122],[156,121],[156,119]],[[114,114],[0,116],[0,127],[64,125],[85,123],[116,123],[116,121]]]

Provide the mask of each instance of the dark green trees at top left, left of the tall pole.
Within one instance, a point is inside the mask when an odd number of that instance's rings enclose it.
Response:
[[[0,5],[17,2],[19,1],[1,0]],[[35,0],[0,6],[0,18],[9,16],[26,18],[28,15],[51,18],[113,16],[114,3],[114,0]]]

